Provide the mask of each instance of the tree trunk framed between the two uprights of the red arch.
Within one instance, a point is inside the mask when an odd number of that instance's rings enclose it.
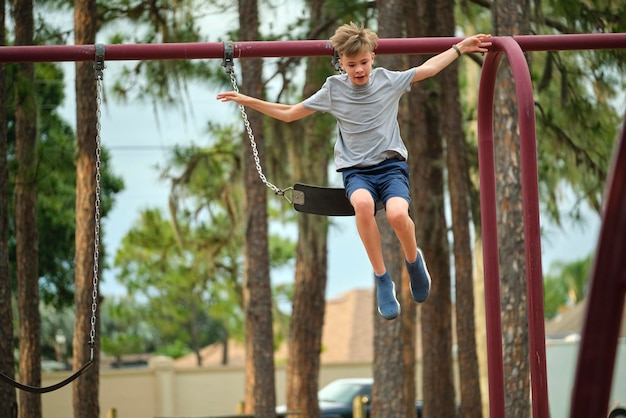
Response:
[[[529,33],[527,0],[497,0],[492,19],[495,35]],[[504,58],[496,80],[494,132],[498,245],[500,250],[500,306],[502,309],[505,410],[508,417],[530,414],[530,365],[526,262],[520,179],[520,137],[513,74]]]

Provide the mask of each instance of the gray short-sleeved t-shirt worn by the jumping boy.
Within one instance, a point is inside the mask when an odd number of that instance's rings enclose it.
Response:
[[[370,167],[388,158],[407,159],[398,125],[398,102],[411,89],[414,75],[415,68],[406,71],[375,68],[365,86],[353,85],[347,74],[333,75],[302,102],[307,109],[337,118],[337,170]]]

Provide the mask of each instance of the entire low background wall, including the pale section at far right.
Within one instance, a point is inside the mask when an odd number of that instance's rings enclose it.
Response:
[[[566,416],[574,379],[578,342],[548,342],[548,395],[553,417]],[[626,339],[618,346],[611,393],[611,406],[626,405]],[[156,357],[149,367],[136,370],[102,370],[100,372],[100,416],[107,417],[111,408],[117,418],[210,417],[229,415],[243,400],[242,367],[175,368],[171,359]],[[421,367],[417,366],[417,376]],[[46,373],[42,385],[49,386],[68,376]],[[320,386],[342,377],[371,377],[371,363],[324,364]],[[77,380],[80,384],[80,378]],[[458,376],[455,376],[458,387]],[[457,391],[458,393],[458,391]],[[486,393],[483,392],[483,396]],[[277,404],[285,402],[285,367],[276,366]],[[421,398],[418,384],[417,398]],[[72,387],[42,395],[45,418],[70,418]]]

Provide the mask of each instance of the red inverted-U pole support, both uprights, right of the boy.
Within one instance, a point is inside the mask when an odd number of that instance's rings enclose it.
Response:
[[[548,385],[543,314],[543,277],[541,271],[541,233],[535,112],[530,71],[519,44],[512,38],[498,38],[510,62],[518,101],[522,204],[526,257],[530,373],[534,417],[548,417]],[[493,57],[490,57],[493,55]],[[491,416],[504,416],[504,374],[502,371],[502,323],[496,220],[496,186],[493,151],[493,93],[499,54],[489,54],[483,66],[478,105],[481,213],[485,263],[485,303],[487,306],[487,344]],[[496,318],[497,317],[497,318]],[[497,363],[496,363],[497,362]]]

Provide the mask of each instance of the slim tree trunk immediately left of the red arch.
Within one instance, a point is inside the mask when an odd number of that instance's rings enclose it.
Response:
[[[439,5],[439,34],[454,36],[454,0],[444,0]],[[462,416],[482,417],[480,375],[476,353],[476,327],[474,324],[474,283],[472,246],[470,237],[470,179],[467,146],[462,126],[459,100],[458,63],[452,63],[441,73],[441,108],[445,117],[441,133],[446,141],[448,166],[448,192],[452,215],[456,335],[460,375]]]

